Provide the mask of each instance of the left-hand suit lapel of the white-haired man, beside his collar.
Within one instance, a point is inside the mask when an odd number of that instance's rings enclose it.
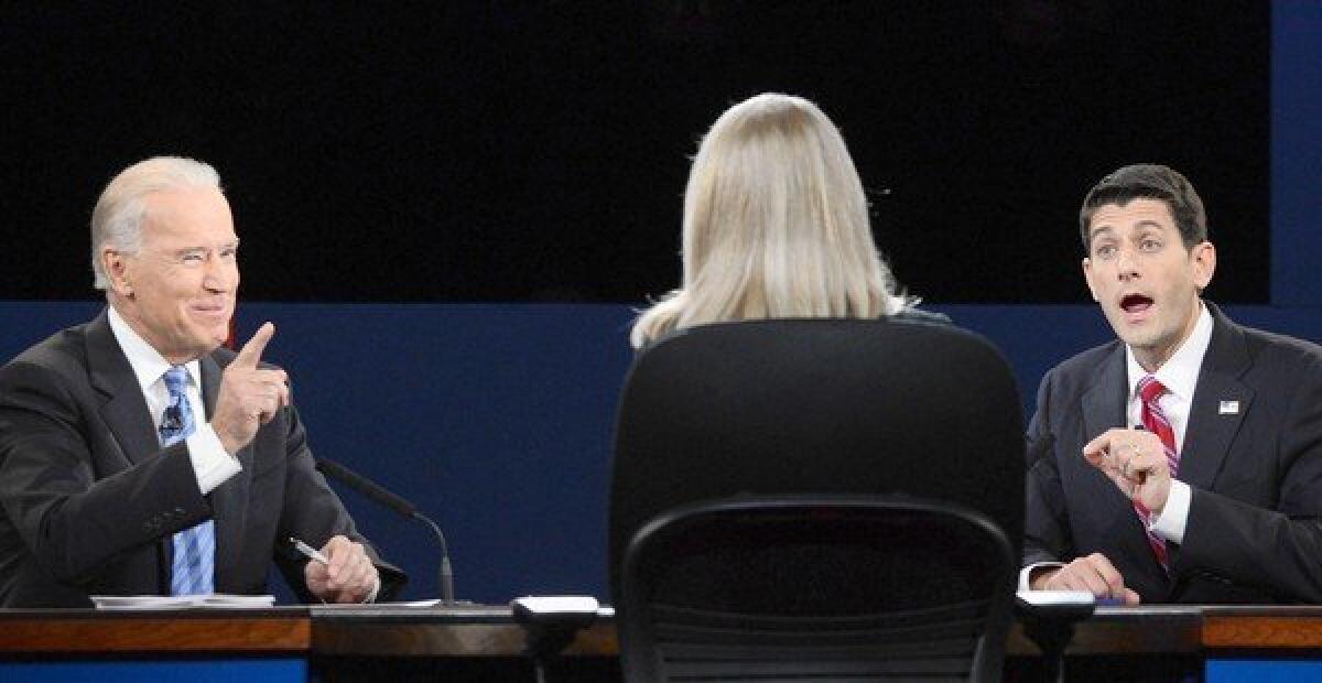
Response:
[[[160,452],[160,437],[128,358],[110,330],[106,312],[87,324],[87,370],[106,396],[100,416],[119,441],[126,460],[139,464]]]

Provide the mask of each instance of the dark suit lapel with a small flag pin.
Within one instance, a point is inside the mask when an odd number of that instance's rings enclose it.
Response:
[[[1207,308],[1212,313],[1212,338],[1194,390],[1179,457],[1179,480],[1199,489],[1212,487],[1255,396],[1239,380],[1251,363],[1243,332],[1216,306],[1207,304]],[[1222,410],[1223,404],[1227,410]]]

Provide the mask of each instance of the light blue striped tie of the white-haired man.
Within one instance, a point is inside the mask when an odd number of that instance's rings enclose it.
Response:
[[[188,404],[184,386],[188,370],[175,366],[165,371],[169,406],[161,417],[161,445],[173,445],[193,433],[193,410]],[[208,519],[192,528],[175,534],[175,561],[171,565],[171,594],[192,596],[215,592],[215,522]]]

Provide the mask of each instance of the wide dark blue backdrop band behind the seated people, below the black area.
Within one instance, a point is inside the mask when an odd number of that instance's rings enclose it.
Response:
[[[95,303],[0,304],[0,355],[90,318]],[[1112,338],[1092,305],[931,306],[999,346],[1026,417],[1042,374]],[[1240,322],[1322,338],[1313,308],[1227,306]],[[607,597],[611,433],[632,359],[624,305],[243,304],[246,340],[290,371],[317,456],[410,498],[446,528],[459,597]],[[342,489],[340,489],[342,491]],[[364,531],[436,594],[430,531],[352,493]],[[287,596],[287,593],[284,593]]]

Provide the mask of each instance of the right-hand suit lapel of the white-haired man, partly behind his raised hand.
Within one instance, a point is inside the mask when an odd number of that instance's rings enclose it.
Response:
[[[215,412],[215,399],[221,390],[221,366],[214,355],[202,357],[202,402],[206,420]],[[217,486],[208,498],[212,502],[212,517],[215,519],[215,591],[235,593],[242,587],[234,583],[241,550],[243,548],[243,527],[247,523],[249,484],[253,481],[253,444],[238,452],[243,468],[225,484]]]

